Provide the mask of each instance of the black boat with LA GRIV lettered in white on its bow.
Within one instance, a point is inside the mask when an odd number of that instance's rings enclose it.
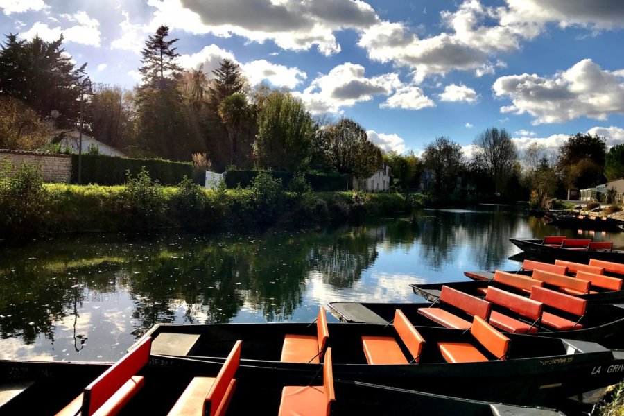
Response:
[[[453,343],[472,345],[476,343],[472,330],[419,327],[419,336],[415,337],[414,327],[403,324],[403,333],[408,333],[408,340],[404,340],[404,335],[397,336],[397,327],[397,320],[390,326],[329,323],[326,331],[318,331],[317,327],[304,323],[159,324],[146,336],[153,338],[156,345],[150,355],[150,365],[173,367],[189,373],[214,370],[224,362],[234,342],[241,340],[241,365],[237,374],[262,385],[270,384],[276,374],[284,382],[292,377],[311,378],[320,371],[319,364],[308,362],[318,352],[309,358],[311,353],[306,355],[302,362],[286,362],[282,358],[286,339],[314,340],[322,332],[329,333],[336,380],[465,399],[553,406],[580,392],[618,383],[624,376],[624,352],[596,343],[509,333],[505,334],[505,339],[509,340],[510,347],[502,357],[506,359],[496,359],[501,356],[487,353],[490,358],[486,358],[487,361],[449,363],[440,346]],[[399,339],[401,343],[419,345],[419,354],[410,353],[413,354],[410,359],[415,358],[416,363],[408,363],[406,355],[401,352],[406,346],[399,346]],[[369,364],[378,362],[377,356],[372,354],[364,340],[379,340],[383,344],[377,345],[381,347],[380,359],[394,360],[400,355],[401,360],[397,362],[401,363]],[[372,356],[376,358],[373,360]]]

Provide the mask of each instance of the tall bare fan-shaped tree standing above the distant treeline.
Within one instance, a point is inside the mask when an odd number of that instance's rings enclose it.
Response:
[[[505,188],[517,162],[517,148],[504,128],[487,128],[474,139],[474,158],[477,164],[492,177],[494,192]]]

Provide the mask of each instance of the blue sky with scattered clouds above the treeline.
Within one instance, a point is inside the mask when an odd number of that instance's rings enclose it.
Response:
[[[127,89],[161,25],[182,67],[234,60],[383,150],[445,136],[469,156],[492,127],[519,150],[577,132],[624,143],[622,0],[0,0],[1,35],[62,33],[92,81]]]

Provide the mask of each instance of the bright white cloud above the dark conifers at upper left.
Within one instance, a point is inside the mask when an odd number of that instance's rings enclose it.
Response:
[[[86,12],[76,12],[73,15],[60,15],[70,23],[76,23],[73,26],[61,28],[55,26],[51,28],[48,24],[37,21],[26,32],[20,33],[19,37],[26,40],[32,40],[35,35],[39,35],[46,42],[58,40],[60,35],[64,36],[65,42],[74,42],[89,46],[100,46],[100,22],[92,19]]]

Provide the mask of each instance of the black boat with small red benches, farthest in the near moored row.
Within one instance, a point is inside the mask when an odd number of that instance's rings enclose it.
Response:
[[[589,259],[624,263],[624,251],[613,250],[610,242],[563,239],[562,243],[549,244],[544,243],[543,239],[519,238],[510,238],[509,241],[523,252],[528,252],[539,258],[570,260],[578,263],[589,263]]]

